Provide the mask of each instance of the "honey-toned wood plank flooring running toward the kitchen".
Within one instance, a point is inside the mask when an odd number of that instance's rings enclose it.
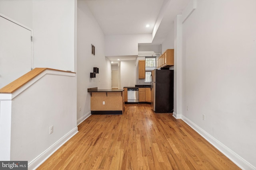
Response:
[[[171,113],[148,104],[123,115],[91,115],[79,132],[38,170],[238,170],[221,152]]]

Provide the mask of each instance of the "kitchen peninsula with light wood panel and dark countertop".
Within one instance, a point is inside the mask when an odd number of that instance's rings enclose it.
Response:
[[[88,88],[91,94],[91,114],[123,114],[124,89]]]

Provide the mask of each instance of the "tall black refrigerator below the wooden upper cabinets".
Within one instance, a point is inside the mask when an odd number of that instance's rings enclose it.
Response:
[[[172,113],[174,70],[152,70],[151,107],[156,113]]]

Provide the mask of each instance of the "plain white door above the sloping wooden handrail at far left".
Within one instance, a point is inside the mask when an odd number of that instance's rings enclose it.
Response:
[[[31,31],[0,16],[0,88],[32,68]]]

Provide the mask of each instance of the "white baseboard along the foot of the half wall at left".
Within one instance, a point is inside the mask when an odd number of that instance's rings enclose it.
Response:
[[[51,147],[49,147],[44,152],[42,152],[42,154],[40,154],[34,160],[32,160],[31,162],[28,162],[28,170],[35,170],[36,168],[38,168],[46,159],[48,159],[64,143],[66,143],[70,138],[76,135],[76,133],[78,133],[77,127],[72,129],[72,131],[67,133],[64,137],[62,137],[60,140],[54,143]]]

